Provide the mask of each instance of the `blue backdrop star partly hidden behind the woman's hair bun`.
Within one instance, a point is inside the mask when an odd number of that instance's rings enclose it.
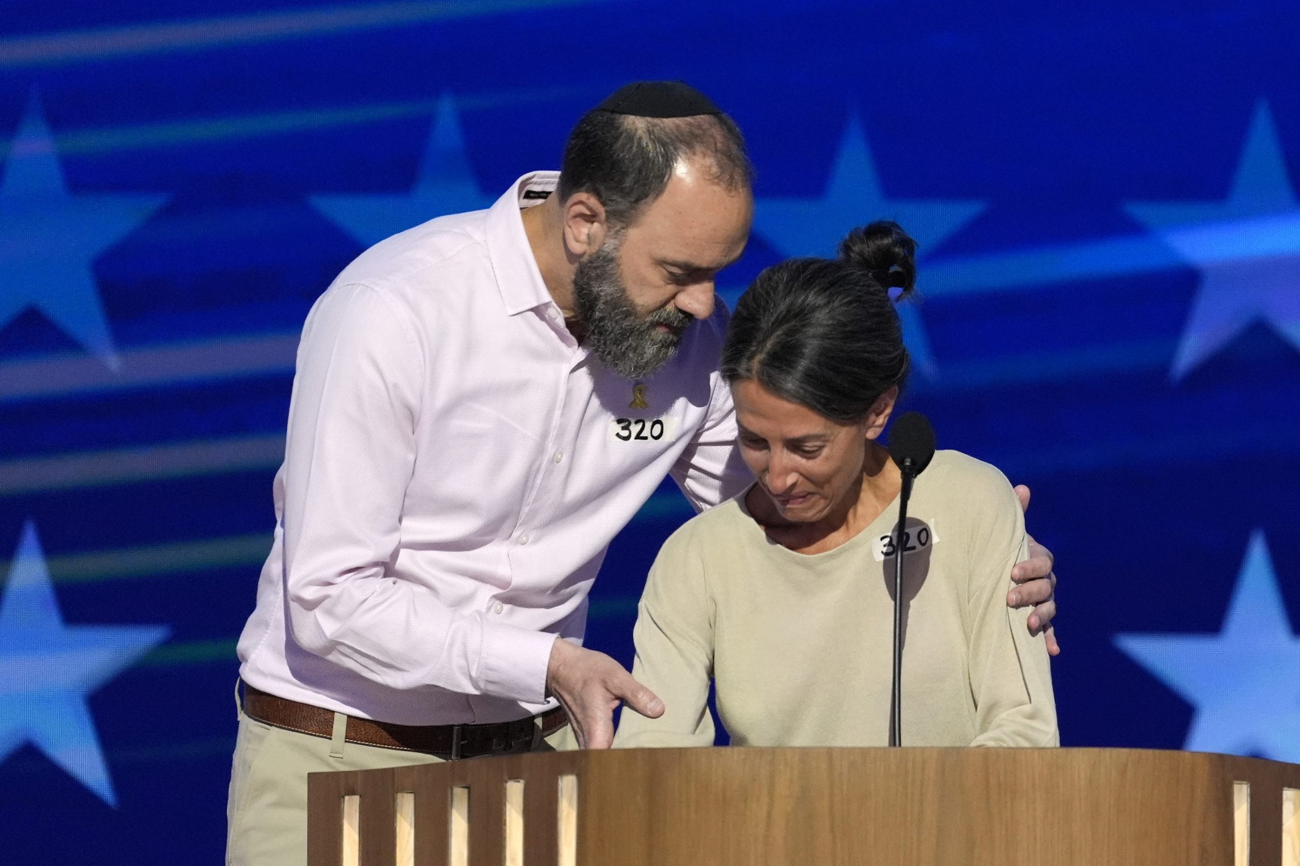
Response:
[[[916,239],[920,253],[939,247],[984,209],[983,201],[956,199],[890,199],[885,195],[857,116],[840,142],[826,192],[816,199],[759,200],[754,230],[783,256],[833,256],[835,245],[854,226],[893,219]],[[924,275],[920,288],[924,291]],[[900,304],[904,336],[913,362],[927,377],[936,374],[930,339],[919,310]]]

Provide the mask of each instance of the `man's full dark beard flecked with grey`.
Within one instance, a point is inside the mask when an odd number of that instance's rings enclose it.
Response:
[[[620,236],[611,236],[577,264],[573,304],[586,328],[586,341],[601,364],[624,379],[644,379],[676,354],[681,335],[694,318],[667,306],[645,317],[637,313],[619,275],[621,241]],[[659,325],[668,331],[660,331]]]

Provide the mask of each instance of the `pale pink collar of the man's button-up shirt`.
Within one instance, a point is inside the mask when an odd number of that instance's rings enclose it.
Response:
[[[559,171],[530,171],[510,184],[488,209],[488,256],[510,315],[552,303],[533,258],[520,209],[545,201],[559,178]]]

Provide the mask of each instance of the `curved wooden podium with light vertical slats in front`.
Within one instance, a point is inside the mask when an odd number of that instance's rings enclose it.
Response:
[[[1300,765],[629,749],[309,776],[309,866],[1300,866]]]

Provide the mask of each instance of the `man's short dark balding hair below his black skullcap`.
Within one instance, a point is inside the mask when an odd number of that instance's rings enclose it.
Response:
[[[753,169],[740,127],[725,114],[636,117],[593,109],[582,116],[560,165],[560,201],[590,192],[614,227],[625,227],[658,199],[684,157],[703,156],[712,179],[728,190],[749,187]]]

